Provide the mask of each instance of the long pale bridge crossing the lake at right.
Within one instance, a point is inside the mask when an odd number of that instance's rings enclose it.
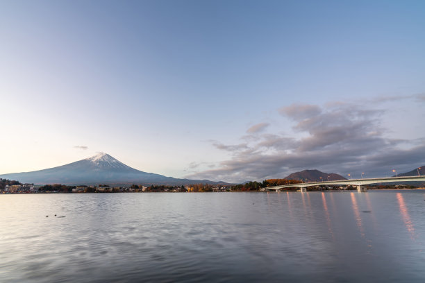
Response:
[[[403,177],[389,177],[389,178],[368,178],[368,179],[349,179],[349,180],[337,180],[337,181],[322,181],[322,182],[304,182],[299,184],[281,185],[274,187],[265,188],[266,191],[281,191],[285,188],[298,187],[301,193],[307,191],[307,187],[324,186],[324,185],[351,185],[356,186],[358,192],[367,191],[364,185],[380,184],[387,182],[420,182],[425,181],[424,176],[403,176]]]

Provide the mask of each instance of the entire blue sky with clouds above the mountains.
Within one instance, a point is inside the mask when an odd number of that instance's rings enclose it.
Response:
[[[425,1],[0,1],[0,174],[425,165]]]

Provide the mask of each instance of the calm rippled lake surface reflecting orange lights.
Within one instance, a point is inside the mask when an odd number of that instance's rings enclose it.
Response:
[[[425,282],[424,199],[0,195],[0,282]]]

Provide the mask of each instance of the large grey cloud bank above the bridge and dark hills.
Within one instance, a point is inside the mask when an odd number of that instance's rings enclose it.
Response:
[[[411,99],[414,99],[412,97]],[[391,139],[381,126],[384,110],[379,103],[328,103],[290,105],[278,110],[283,119],[292,121],[299,138],[276,134],[242,137],[243,144],[226,145],[214,141],[213,146],[232,155],[213,169],[194,172],[188,178],[242,182],[284,178],[304,169],[327,173],[361,172],[369,177],[410,171],[415,164],[425,164],[425,139]],[[258,124],[260,125],[260,124]],[[267,125],[268,126],[268,125]],[[252,128],[252,127],[251,127]]]

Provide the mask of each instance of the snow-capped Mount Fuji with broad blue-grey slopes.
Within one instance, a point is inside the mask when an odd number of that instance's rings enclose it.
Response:
[[[77,162],[50,169],[3,174],[0,175],[0,178],[19,180],[19,182],[33,183],[35,185],[190,185],[201,182],[225,184],[225,182],[212,182],[209,180],[177,179],[143,172],[119,162],[106,153],[99,153]]]

